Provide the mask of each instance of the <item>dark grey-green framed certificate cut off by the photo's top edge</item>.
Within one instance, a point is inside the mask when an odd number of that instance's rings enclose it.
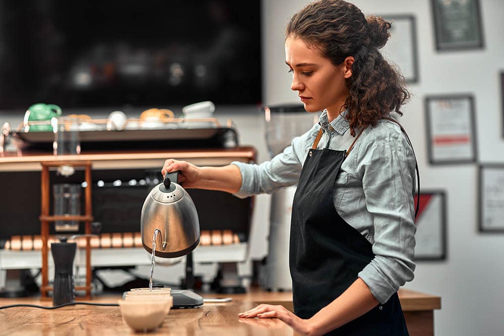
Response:
[[[431,0],[437,50],[483,48],[479,0]]]

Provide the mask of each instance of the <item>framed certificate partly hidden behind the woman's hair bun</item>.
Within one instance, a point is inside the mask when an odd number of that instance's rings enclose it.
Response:
[[[411,15],[383,15],[390,22],[390,38],[381,49],[384,57],[397,64],[408,83],[418,82],[416,22]]]

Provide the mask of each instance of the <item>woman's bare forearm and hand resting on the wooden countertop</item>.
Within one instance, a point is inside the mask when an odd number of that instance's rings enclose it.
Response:
[[[238,316],[279,318],[301,334],[317,336],[339,328],[365,314],[377,304],[379,302],[374,298],[367,285],[362,279],[357,278],[343,294],[309,319],[299,318],[283,306],[266,304],[240,313]]]

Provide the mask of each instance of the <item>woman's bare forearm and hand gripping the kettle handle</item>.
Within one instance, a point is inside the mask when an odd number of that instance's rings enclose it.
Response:
[[[179,171],[178,182],[184,188],[199,188],[236,193],[241,187],[240,169],[235,165],[198,167],[192,163],[168,159],[161,173]]]

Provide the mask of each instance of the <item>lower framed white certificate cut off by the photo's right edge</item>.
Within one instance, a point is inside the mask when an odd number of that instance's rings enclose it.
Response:
[[[479,231],[504,233],[504,164],[479,166]]]

